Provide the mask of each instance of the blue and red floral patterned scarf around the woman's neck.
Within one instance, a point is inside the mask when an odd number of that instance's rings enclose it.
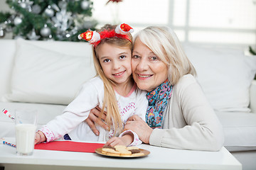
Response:
[[[169,86],[169,81],[166,79],[156,89],[146,94],[149,101],[149,106],[146,110],[146,123],[151,128],[162,128],[163,113],[166,109],[168,99],[171,98],[173,86]]]

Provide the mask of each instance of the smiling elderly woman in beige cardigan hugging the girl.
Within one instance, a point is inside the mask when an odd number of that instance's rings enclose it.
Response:
[[[149,106],[146,122],[134,115],[124,129],[159,147],[206,151],[223,147],[220,122],[173,30],[149,27],[134,36],[132,74],[139,89],[148,91]],[[86,120],[95,133],[92,122],[97,115],[92,111]]]

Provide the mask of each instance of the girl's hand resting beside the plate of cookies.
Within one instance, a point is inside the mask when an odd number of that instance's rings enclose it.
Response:
[[[105,143],[105,146],[114,147],[115,145],[124,145],[128,146],[133,141],[133,134],[127,133],[126,135],[122,137],[112,137],[110,140],[108,140]]]

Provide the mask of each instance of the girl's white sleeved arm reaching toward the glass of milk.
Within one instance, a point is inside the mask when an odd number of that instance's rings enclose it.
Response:
[[[102,101],[100,94],[104,94],[104,92],[102,93],[103,90],[99,91],[102,89],[99,87],[103,87],[100,78],[88,81],[82,86],[80,94],[65,108],[63,114],[56,116],[43,126],[51,134],[50,137],[44,134],[46,142],[63,137],[88,117],[90,109],[95,108]],[[46,132],[43,129],[41,131]]]

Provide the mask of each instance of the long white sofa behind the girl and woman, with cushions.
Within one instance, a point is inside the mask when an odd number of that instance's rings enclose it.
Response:
[[[183,47],[223,124],[225,147],[243,169],[255,169],[256,56],[226,48]],[[35,108],[40,128],[60,115],[81,84],[95,75],[91,55],[86,42],[0,40],[0,110]],[[0,138],[14,135],[14,122],[1,113]]]

